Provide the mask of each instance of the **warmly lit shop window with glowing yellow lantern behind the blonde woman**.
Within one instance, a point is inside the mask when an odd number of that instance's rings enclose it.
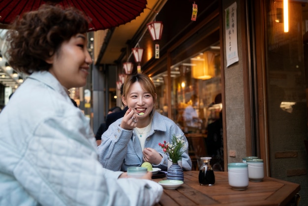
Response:
[[[156,109],[168,115],[167,71],[152,77]],[[185,133],[207,133],[219,119],[221,104],[220,47],[218,43],[171,67],[172,119]]]

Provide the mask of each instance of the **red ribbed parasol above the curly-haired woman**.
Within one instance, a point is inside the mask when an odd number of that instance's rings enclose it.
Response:
[[[90,20],[89,31],[105,30],[135,19],[146,8],[147,0],[0,0],[0,23],[10,24],[23,12],[36,10],[41,4],[74,6]]]

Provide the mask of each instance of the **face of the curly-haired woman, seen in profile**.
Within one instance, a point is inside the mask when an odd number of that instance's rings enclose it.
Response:
[[[66,89],[82,87],[87,83],[92,58],[87,49],[86,34],[77,34],[64,41],[58,52],[47,63],[52,64],[49,72]]]

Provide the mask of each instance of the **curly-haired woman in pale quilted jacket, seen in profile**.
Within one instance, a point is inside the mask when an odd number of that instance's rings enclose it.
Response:
[[[87,83],[88,21],[43,4],[7,32],[8,61],[30,74],[0,113],[0,206],[152,206],[162,187],[98,162],[90,119],[67,90]],[[119,178],[124,177],[124,178]]]

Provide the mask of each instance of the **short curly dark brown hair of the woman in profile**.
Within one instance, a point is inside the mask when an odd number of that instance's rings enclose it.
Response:
[[[49,70],[51,65],[45,60],[58,52],[63,41],[86,33],[89,23],[77,8],[43,4],[17,18],[9,29],[6,36],[9,64],[16,71],[31,74]]]

